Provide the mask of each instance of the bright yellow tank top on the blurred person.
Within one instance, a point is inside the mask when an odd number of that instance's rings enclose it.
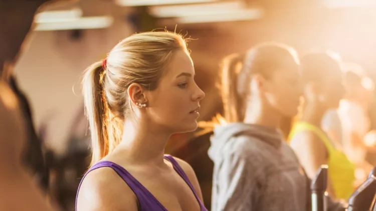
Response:
[[[307,122],[296,122],[289,134],[289,140],[299,132],[311,131],[316,134],[325,144],[328,151],[328,174],[332,183],[335,196],[341,199],[348,199],[354,190],[355,165],[348,160],[347,156],[336,149],[330,142],[329,137],[317,126]]]

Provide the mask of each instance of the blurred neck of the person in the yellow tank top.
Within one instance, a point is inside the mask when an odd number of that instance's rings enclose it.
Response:
[[[326,108],[320,105],[307,103],[303,108],[300,120],[321,127],[321,120],[325,111]]]

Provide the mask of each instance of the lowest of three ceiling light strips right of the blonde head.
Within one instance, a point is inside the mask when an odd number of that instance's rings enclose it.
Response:
[[[226,15],[198,15],[178,17],[178,23],[208,23],[208,22],[229,22],[241,20],[260,19],[263,16],[261,9],[241,10]]]

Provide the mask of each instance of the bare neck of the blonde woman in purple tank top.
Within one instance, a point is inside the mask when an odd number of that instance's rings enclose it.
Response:
[[[132,163],[163,166],[164,148],[171,133],[146,125],[143,122],[125,121],[123,137],[117,148],[125,150],[126,159]]]

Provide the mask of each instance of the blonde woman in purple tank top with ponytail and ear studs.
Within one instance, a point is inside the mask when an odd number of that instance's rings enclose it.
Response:
[[[120,41],[83,79],[92,161],[76,210],[207,210],[193,168],[165,155],[197,128],[205,93],[183,37],[143,32]]]

